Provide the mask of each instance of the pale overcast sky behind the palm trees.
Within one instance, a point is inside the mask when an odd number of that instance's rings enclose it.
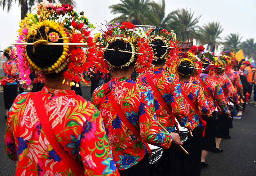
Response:
[[[159,0],[155,0],[160,2]],[[108,8],[112,4],[120,3],[119,0],[76,0],[76,12],[84,11],[89,22],[98,24],[104,20],[110,21],[117,15],[110,13]],[[199,26],[209,22],[220,22],[223,32],[220,37],[224,39],[230,33],[239,33],[243,36],[242,42],[249,38],[254,38],[256,42],[256,0],[165,0],[165,15],[180,8],[187,8],[194,12],[194,17],[201,16]],[[20,7],[18,3],[12,5],[12,9],[7,13],[7,8],[0,9],[0,49],[3,50],[15,41],[20,22]],[[175,31],[174,31],[175,32]],[[195,44],[195,43],[194,43]]]

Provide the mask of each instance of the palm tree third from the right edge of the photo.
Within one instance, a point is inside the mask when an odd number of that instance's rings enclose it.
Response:
[[[207,50],[211,52],[215,51],[215,45],[218,49],[218,45],[220,42],[218,39],[220,38],[220,33],[224,30],[221,28],[220,22],[209,22],[208,24],[204,24],[203,28],[200,27],[200,44],[207,44]]]

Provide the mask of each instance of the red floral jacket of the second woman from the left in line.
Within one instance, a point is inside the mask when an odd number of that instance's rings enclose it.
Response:
[[[108,83],[124,115],[138,130],[144,142],[169,148],[172,136],[162,132],[156,123],[152,92],[130,77],[112,78]],[[125,126],[103,93],[104,84],[92,94],[92,103],[101,111],[108,142],[118,170],[137,164],[147,153],[145,145]]]

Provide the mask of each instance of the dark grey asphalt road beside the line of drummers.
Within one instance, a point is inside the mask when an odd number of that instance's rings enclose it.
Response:
[[[83,97],[91,99],[90,86],[82,86]],[[4,149],[5,109],[3,93],[0,92],[0,176],[14,176],[15,162],[7,157]],[[209,153],[208,167],[201,176],[256,176],[256,107],[246,106],[242,119],[233,120],[231,139],[222,140],[222,153]]]

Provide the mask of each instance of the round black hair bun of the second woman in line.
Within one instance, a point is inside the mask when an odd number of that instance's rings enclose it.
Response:
[[[118,51],[118,50],[123,50],[123,51],[132,52],[132,47],[129,43],[126,44],[124,43],[124,41],[117,39],[116,41],[109,44],[108,48],[116,50],[116,51],[111,51],[111,50],[104,51],[104,58],[113,66],[116,66],[116,67],[122,66],[127,62],[129,62],[129,60],[132,58],[132,53]]]

